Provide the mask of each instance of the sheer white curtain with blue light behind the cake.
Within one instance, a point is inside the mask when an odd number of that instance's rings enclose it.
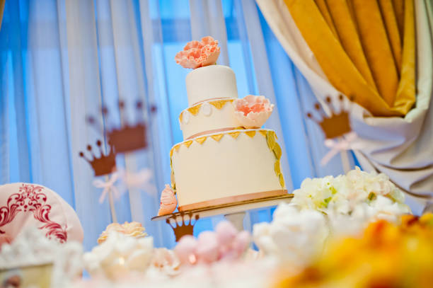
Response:
[[[145,103],[149,149],[120,166],[151,169],[155,191],[129,190],[115,202],[120,222],[140,221],[156,246],[172,247],[163,222],[152,222],[159,192],[170,183],[169,151],[182,139],[178,115],[187,107],[187,70],[174,62],[185,42],[212,35],[221,45],[219,64],[236,73],[239,96],[265,95],[277,109],[267,122],[284,148],[287,188],[306,177],[342,173],[339,156],[320,166],[328,151],[323,134],[305,120],[316,98],[270,30],[253,0],[6,0],[0,30],[0,183],[30,182],[58,192],[75,209],[86,249],[110,224],[108,202],[79,151],[100,132],[86,115],[120,123],[119,99],[133,122],[133,103]],[[128,105],[129,104],[129,105]],[[156,107],[156,113],[150,107]],[[354,161],[350,157],[352,165]],[[269,221],[272,210],[250,213],[246,227]],[[196,233],[221,220],[201,219]]]

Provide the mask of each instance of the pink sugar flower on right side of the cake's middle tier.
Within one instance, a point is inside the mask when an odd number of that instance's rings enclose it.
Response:
[[[236,118],[247,129],[262,127],[274,109],[274,105],[265,96],[248,95],[234,100],[233,105]]]

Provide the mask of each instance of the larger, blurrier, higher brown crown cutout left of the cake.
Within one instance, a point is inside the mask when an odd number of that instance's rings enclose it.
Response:
[[[137,101],[135,108],[137,110],[137,123],[131,125],[127,123],[125,119],[125,102],[119,101],[120,115],[122,115],[122,127],[112,127],[108,121],[109,113],[108,108],[101,108],[101,113],[106,123],[106,134],[108,142],[114,146],[116,153],[127,153],[136,151],[139,149],[147,148],[147,137],[146,137],[146,123],[142,117],[143,103],[142,101]],[[102,125],[98,125],[94,117],[87,117],[87,122],[99,131],[103,131]]]

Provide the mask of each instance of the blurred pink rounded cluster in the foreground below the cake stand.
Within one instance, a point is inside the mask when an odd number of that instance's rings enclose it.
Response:
[[[220,222],[215,231],[204,231],[197,239],[183,236],[175,253],[186,265],[211,264],[241,258],[250,243],[248,231],[238,232],[228,221]]]

